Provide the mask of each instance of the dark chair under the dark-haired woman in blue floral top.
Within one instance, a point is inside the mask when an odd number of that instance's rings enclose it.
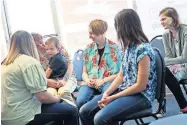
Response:
[[[157,87],[156,87],[156,96],[155,99],[158,102],[158,108],[156,112],[152,111],[152,108],[145,109],[143,111],[134,113],[127,118],[120,121],[120,125],[123,125],[128,120],[135,120],[137,125],[148,125],[149,123],[144,123],[143,118],[153,117],[158,119],[157,114],[161,112],[161,110],[165,110],[165,64],[164,59],[161,56],[158,49],[154,48],[156,55],[156,74],[157,74]]]

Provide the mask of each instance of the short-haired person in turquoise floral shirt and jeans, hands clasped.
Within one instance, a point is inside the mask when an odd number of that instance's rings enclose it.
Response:
[[[89,38],[93,41],[84,51],[83,82],[76,99],[78,109],[95,93],[103,93],[120,70],[118,45],[106,38],[108,25],[101,19],[89,24]]]

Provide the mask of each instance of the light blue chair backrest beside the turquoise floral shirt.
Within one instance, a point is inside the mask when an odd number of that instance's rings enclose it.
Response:
[[[73,71],[76,74],[77,81],[82,81],[83,52],[81,49],[77,50],[73,58]]]

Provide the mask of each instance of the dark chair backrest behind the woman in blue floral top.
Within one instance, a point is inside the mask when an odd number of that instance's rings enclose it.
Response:
[[[165,63],[164,59],[157,48],[153,48],[156,58],[156,75],[157,75],[157,87],[156,87],[156,99],[163,100],[165,97]]]

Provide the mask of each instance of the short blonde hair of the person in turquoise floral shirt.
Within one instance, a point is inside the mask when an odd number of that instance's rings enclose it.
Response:
[[[92,30],[93,34],[102,35],[107,31],[108,24],[106,21],[103,21],[101,19],[95,19],[90,22],[89,27]]]

